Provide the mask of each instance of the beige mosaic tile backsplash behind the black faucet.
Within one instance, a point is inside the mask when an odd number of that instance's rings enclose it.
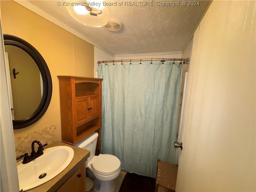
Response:
[[[31,143],[34,140],[38,140],[43,144],[52,144],[54,141],[57,140],[56,138],[56,125],[52,124],[45,128],[36,130],[34,132],[30,132],[24,134],[22,136],[15,136],[14,134],[14,142],[15,142],[15,151],[16,157],[21,156],[25,153],[30,155],[31,153]],[[36,145],[36,144],[35,144]],[[35,150],[38,146],[35,146]]]

